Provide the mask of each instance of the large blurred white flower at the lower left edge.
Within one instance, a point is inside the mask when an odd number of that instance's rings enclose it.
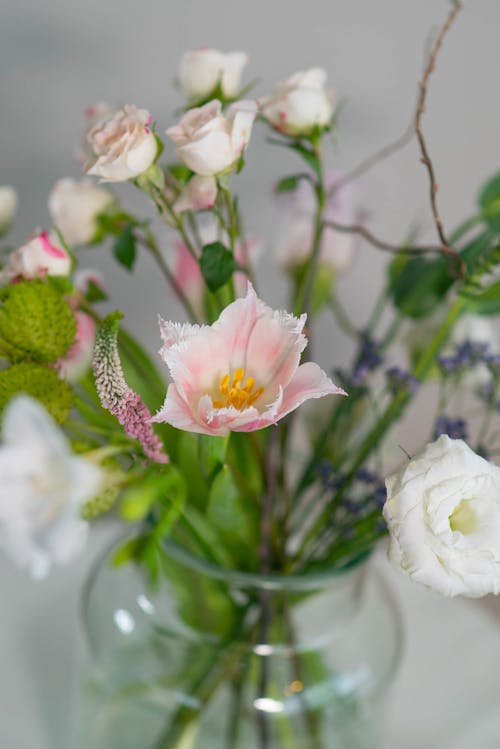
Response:
[[[102,471],[70,445],[38,401],[13,398],[0,446],[0,548],[42,578],[52,564],[83,548],[88,523],[80,512],[100,490]]]

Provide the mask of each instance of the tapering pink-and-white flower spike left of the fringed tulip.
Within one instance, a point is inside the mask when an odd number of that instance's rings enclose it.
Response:
[[[108,315],[101,324],[94,345],[93,369],[101,405],[116,416],[126,434],[139,441],[144,454],[155,463],[168,463],[161,440],[151,426],[151,412],[140,395],[125,381],[118,353],[118,321]]]

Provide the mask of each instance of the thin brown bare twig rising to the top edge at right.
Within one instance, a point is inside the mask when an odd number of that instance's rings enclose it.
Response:
[[[422,80],[419,82],[419,96],[418,96],[418,102],[417,102],[417,111],[415,113],[415,134],[418,139],[418,143],[420,146],[420,153],[421,153],[421,160],[422,163],[425,165],[427,172],[429,174],[429,182],[430,182],[430,200],[431,200],[431,209],[432,209],[432,215],[434,218],[434,224],[436,226],[436,231],[438,233],[439,239],[441,241],[441,251],[446,253],[447,255],[451,255],[454,257],[454,259],[457,259],[459,264],[459,273],[461,276],[464,275],[464,263],[462,258],[460,258],[459,253],[451,247],[444,228],[443,228],[443,222],[441,221],[441,216],[439,214],[439,210],[437,207],[437,191],[438,191],[438,183],[436,181],[436,173],[434,171],[434,166],[432,164],[429,151],[427,149],[427,144],[424,138],[424,134],[422,131],[422,115],[425,112],[425,101],[427,96],[427,87],[429,84],[429,79],[436,69],[436,60],[439,55],[439,52],[441,50],[441,47],[443,45],[444,38],[446,34],[448,33],[451,25],[453,24],[453,21],[455,20],[456,16],[462,9],[462,3],[460,0],[454,0],[453,7],[450,10],[448,17],[446,18],[446,21],[444,22],[443,26],[441,27],[441,30],[436,38],[436,41],[432,45],[429,59],[427,61],[427,65],[424,70],[424,74],[422,76]]]

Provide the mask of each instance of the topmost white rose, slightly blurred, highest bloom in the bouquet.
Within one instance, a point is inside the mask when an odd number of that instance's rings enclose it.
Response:
[[[248,63],[244,52],[219,52],[217,49],[192,49],[185,52],[179,67],[178,81],[189,99],[204,99],[220,85],[226,99],[237,96],[241,74]]]

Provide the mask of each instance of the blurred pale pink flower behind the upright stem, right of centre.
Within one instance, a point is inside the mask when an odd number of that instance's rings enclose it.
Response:
[[[327,191],[332,190],[342,176],[342,173],[337,171],[327,173]],[[323,213],[324,220],[344,226],[358,223],[361,212],[357,198],[357,185],[354,182],[346,183],[328,199]],[[279,202],[282,208],[282,229],[276,254],[282,268],[293,270],[307,262],[311,254],[316,200],[311,186],[301,181],[293,193],[280,195]],[[334,273],[341,273],[352,264],[358,245],[359,238],[355,234],[325,228],[321,241],[320,263]]]

